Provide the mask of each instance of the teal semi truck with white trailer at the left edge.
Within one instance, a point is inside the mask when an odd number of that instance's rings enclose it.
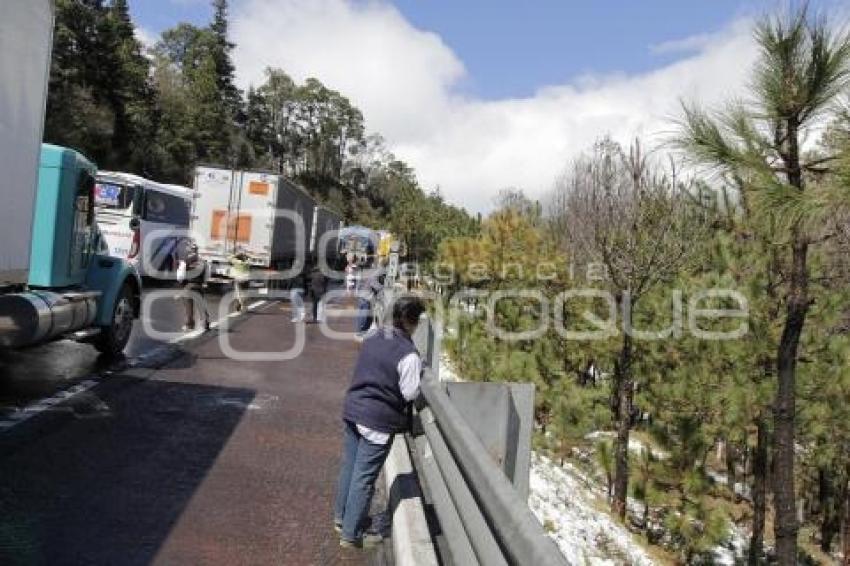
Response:
[[[3,0],[0,18],[0,348],[63,337],[123,351],[141,282],[95,222],[97,168],[42,144],[52,0]]]

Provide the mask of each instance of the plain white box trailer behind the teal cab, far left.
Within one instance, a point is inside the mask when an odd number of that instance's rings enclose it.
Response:
[[[27,281],[53,2],[0,2],[0,287]]]

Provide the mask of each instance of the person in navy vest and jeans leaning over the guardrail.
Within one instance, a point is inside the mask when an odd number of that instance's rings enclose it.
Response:
[[[334,504],[340,546],[362,548],[382,540],[365,528],[375,481],[393,435],[408,429],[410,404],[419,395],[422,360],[411,336],[425,306],[402,297],[393,306],[393,326],[363,342],[342,411],[342,464]]]

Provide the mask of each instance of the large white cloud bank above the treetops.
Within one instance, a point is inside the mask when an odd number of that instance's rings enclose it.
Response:
[[[738,92],[755,56],[739,21],[660,48],[693,53],[652,72],[586,76],[492,101],[460,95],[466,69],[457,55],[385,2],[245,0],[231,29],[243,86],[261,82],[269,65],[319,78],[363,110],[425,186],[470,210],[487,210],[508,186],[542,195],[603,134],[627,142],[669,130],[682,97],[713,103]]]

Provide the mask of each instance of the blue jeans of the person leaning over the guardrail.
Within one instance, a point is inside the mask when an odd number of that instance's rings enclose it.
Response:
[[[375,481],[390,453],[392,438],[387,444],[372,444],[360,436],[354,423],[345,421],[344,428],[334,521],[342,523],[342,538],[356,541],[363,536]]]

